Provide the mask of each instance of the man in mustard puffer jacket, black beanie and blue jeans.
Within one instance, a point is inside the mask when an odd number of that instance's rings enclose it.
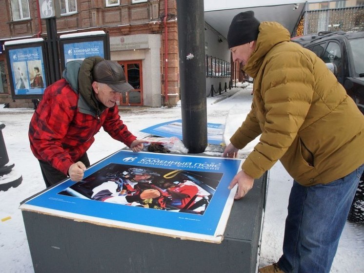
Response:
[[[329,272],[364,169],[364,116],[313,52],[290,42],[277,22],[234,17],[233,61],[254,78],[251,111],[223,156],[260,136],[230,183],[242,198],[280,160],[294,178],[283,255],[260,272]]]

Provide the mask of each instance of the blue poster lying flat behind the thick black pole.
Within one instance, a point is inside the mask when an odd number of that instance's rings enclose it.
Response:
[[[224,126],[218,123],[207,123],[207,143],[221,145]],[[161,137],[178,137],[182,141],[182,120],[160,123],[142,129],[141,132]]]

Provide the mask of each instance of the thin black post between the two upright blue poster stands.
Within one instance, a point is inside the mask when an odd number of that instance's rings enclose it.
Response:
[[[60,53],[58,51],[57,21],[56,18],[45,20],[47,26],[47,51],[49,64],[50,84],[61,79]]]

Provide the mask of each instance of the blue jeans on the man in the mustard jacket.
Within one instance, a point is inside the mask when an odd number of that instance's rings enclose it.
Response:
[[[289,196],[283,255],[285,273],[329,273],[364,165],[329,184],[303,187]]]

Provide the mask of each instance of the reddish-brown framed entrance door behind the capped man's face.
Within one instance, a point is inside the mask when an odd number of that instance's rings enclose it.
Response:
[[[142,61],[118,61],[124,69],[126,81],[135,89],[122,93],[120,105],[143,105]]]

